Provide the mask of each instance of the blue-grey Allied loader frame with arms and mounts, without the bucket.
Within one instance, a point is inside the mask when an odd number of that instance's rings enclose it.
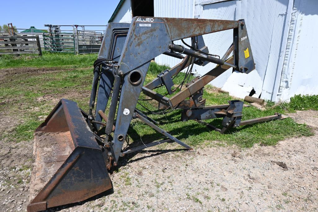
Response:
[[[222,58],[216,58],[216,55],[209,53],[202,35],[230,29],[233,29],[233,43]],[[176,142],[186,149],[193,149],[162,130],[157,126],[159,123],[142,111],[135,109],[141,91],[158,101],[161,108],[182,109],[182,121],[190,119],[201,121],[223,117],[223,129],[210,127],[220,133],[244,124],[241,123],[243,102],[230,101],[227,105],[205,107],[205,100],[202,98],[204,86],[229,68],[245,74],[255,69],[244,20],[135,17],[130,25],[110,23],[105,34],[99,53],[99,60],[104,59],[105,63],[100,67],[95,66],[94,82],[98,81],[98,76],[100,76],[96,112],[94,116],[92,110],[96,99],[97,83],[93,83],[95,87],[93,86],[88,116],[89,125],[92,129],[99,131],[112,91],[109,116],[106,120],[104,118],[107,123],[103,124],[106,125],[106,137],[105,139],[100,138],[100,140],[105,143],[114,166],[117,165],[119,157],[162,142]],[[173,43],[173,41],[185,38],[191,38],[190,48]],[[123,40],[125,40],[124,43]],[[233,56],[230,56],[232,52]],[[182,61],[175,67],[158,74],[157,78],[149,84],[142,86],[150,61],[160,54],[176,57]],[[118,58],[119,60],[116,62],[115,60]],[[193,64],[205,66],[208,63],[215,63],[217,67],[204,76],[198,76],[188,82],[179,92],[171,89],[174,85],[172,78],[180,71]],[[108,70],[105,71],[106,69]],[[163,85],[168,94],[176,94],[167,98],[154,91],[155,88]],[[117,117],[115,118],[116,111]],[[210,115],[205,116],[205,114]],[[169,139],[122,152],[123,141],[133,118],[140,119]],[[258,119],[258,121],[267,120],[268,118],[266,118]],[[280,118],[280,115],[271,117],[271,119],[276,118]]]

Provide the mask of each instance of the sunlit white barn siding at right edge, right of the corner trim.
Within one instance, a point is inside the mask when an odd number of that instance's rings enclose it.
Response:
[[[318,1],[295,0],[290,35],[291,53],[287,71],[280,81],[280,100],[289,100],[297,94],[318,94],[315,67],[318,43]]]

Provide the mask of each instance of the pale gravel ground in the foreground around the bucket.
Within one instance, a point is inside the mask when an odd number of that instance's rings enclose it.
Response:
[[[318,112],[290,116],[315,135],[249,149],[154,147],[121,160],[113,191],[48,211],[317,211]],[[1,148],[0,211],[26,210],[31,154],[32,142]]]

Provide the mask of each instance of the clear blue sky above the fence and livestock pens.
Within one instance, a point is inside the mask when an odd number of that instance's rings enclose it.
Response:
[[[52,25],[107,25],[120,0],[0,0],[0,25],[48,29]],[[13,6],[13,4],[15,6]],[[56,6],[54,6],[56,5]],[[86,27],[87,30],[105,27]],[[22,30],[18,30],[19,32]]]

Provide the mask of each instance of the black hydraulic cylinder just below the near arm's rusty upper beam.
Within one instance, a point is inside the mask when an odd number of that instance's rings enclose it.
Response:
[[[224,61],[221,59],[218,59],[218,58],[215,58],[215,57],[212,57],[210,55],[203,54],[203,53],[199,53],[199,52],[193,51],[191,49],[184,48],[183,46],[169,44],[169,48],[172,51],[187,54],[187,55],[193,56],[195,58],[199,58],[200,60],[209,61],[209,62],[218,64],[218,65],[224,65]]]

